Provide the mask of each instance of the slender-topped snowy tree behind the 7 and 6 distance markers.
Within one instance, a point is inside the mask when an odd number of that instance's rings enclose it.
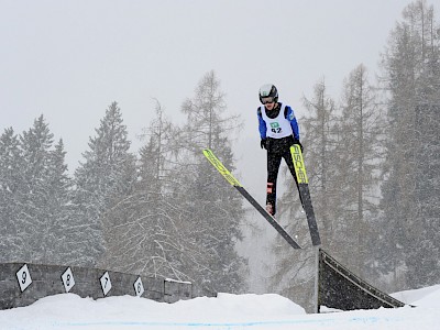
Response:
[[[176,129],[157,102],[156,118],[145,130],[147,142],[140,151],[138,183],[132,195],[109,215],[112,219],[121,219],[118,226],[108,229],[109,249],[105,263],[113,270],[189,279],[182,261],[185,250],[182,216],[170,195],[175,136]]]

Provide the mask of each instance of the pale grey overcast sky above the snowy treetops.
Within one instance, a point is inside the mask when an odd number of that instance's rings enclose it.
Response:
[[[359,64],[374,77],[410,2],[0,0],[0,130],[21,133],[43,113],[64,140],[72,172],[112,101],[139,146],[135,136],[155,114],[152,98],[177,123],[182,102],[213,69],[230,112],[245,123],[250,140],[238,145],[265,162],[256,152],[260,86],[275,84],[297,116],[322,77],[339,98]]]

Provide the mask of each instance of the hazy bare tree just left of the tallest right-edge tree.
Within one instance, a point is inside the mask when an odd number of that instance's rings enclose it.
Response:
[[[351,245],[344,256],[361,276],[373,263],[370,242],[375,237],[372,233],[378,212],[384,119],[366,68],[360,65],[344,81],[337,153],[341,169],[338,180],[343,185],[337,194],[343,196],[338,221],[345,224],[345,231],[340,235],[345,237],[344,246]]]

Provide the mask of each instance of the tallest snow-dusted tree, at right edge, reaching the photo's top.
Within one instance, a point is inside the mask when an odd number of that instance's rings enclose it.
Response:
[[[382,208],[394,257],[387,264],[395,282],[406,270],[396,289],[433,284],[439,276],[438,29],[432,7],[409,4],[383,57],[389,139]]]

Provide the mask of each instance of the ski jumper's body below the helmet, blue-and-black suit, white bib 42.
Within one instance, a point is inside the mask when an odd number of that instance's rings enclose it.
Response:
[[[272,206],[273,215],[275,215],[276,182],[282,158],[286,162],[299,194],[298,180],[290,154],[290,146],[299,141],[299,128],[294,110],[283,103],[277,103],[273,110],[266,110],[264,106],[261,106],[257,109],[257,117],[260,136],[262,140],[266,140],[267,150],[266,205],[270,204]]]

